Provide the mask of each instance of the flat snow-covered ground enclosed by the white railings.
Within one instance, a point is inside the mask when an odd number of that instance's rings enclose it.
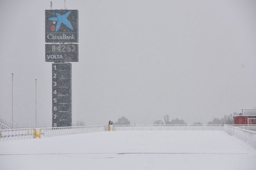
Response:
[[[256,150],[224,131],[114,131],[0,142],[0,169],[255,170]]]

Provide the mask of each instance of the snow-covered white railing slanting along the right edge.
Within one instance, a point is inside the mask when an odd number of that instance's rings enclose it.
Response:
[[[256,149],[256,131],[252,131],[250,128],[254,129],[255,127],[248,127],[244,126],[232,126],[232,125],[225,125],[224,130],[231,136],[235,136],[238,139],[241,139],[245,143],[249,144],[250,146]],[[250,129],[250,130],[248,130]]]

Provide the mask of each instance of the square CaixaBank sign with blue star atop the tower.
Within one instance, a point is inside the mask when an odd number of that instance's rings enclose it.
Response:
[[[78,11],[45,10],[45,42],[78,42]]]

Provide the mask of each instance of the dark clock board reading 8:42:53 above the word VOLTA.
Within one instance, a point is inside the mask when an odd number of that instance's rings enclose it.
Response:
[[[46,62],[78,62],[78,44],[45,44]]]

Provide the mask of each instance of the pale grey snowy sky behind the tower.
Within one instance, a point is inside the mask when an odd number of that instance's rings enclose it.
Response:
[[[256,1],[66,1],[79,10],[72,63],[73,123],[183,119],[207,123],[256,107]],[[53,9],[64,1],[53,0]],[[0,118],[52,122],[52,64],[45,62],[49,1],[0,1]],[[25,126],[25,127],[26,127]]]

